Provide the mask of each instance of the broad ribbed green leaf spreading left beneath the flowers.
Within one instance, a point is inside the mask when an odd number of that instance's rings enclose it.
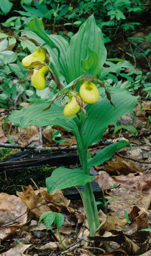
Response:
[[[18,125],[20,128],[25,128],[29,125],[45,126],[45,125],[61,125],[66,129],[75,129],[74,116],[66,117],[63,115],[63,108],[57,104],[52,104],[52,107],[46,111],[48,103],[44,100],[38,100],[27,108],[15,110],[9,116],[9,120]]]

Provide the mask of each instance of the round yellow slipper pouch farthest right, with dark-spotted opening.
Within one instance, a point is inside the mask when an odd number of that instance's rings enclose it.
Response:
[[[84,81],[80,87],[80,96],[86,103],[96,103],[99,98],[99,91],[96,84]]]

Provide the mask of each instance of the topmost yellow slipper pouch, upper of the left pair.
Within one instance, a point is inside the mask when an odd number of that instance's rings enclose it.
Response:
[[[43,50],[41,47],[39,47],[38,49],[36,49],[35,52],[26,56],[22,60],[22,65],[25,68],[35,68],[37,65],[32,65],[32,63],[36,62],[36,61],[45,61],[45,58],[46,58],[45,50]]]

